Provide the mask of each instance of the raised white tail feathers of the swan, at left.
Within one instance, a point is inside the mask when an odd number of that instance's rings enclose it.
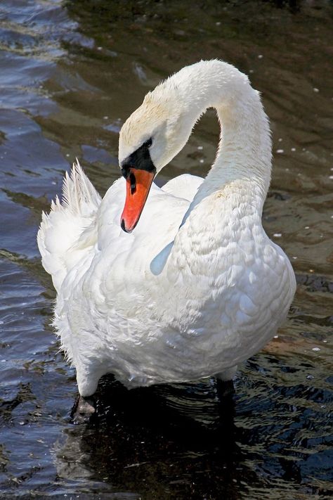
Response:
[[[51,203],[51,212],[43,212],[37,234],[41,262],[51,274],[58,291],[67,272],[96,243],[94,224],[100,195],[81,169],[74,163],[63,182],[63,199]]]

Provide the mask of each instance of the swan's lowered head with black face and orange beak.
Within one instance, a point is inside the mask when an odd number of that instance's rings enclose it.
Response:
[[[138,223],[155,175],[183,148],[192,129],[170,78],[147,94],[126,120],[119,136],[119,165],[126,179],[121,226],[130,233]]]

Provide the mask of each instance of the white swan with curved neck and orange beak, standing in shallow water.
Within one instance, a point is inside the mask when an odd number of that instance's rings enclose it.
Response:
[[[152,184],[145,203],[155,173],[209,107],[221,122],[209,174]],[[270,162],[259,93],[232,65],[210,60],[145,96],[120,132],[126,181],[103,200],[74,165],[63,202],[43,214],[38,243],[81,396],[93,395],[105,373],[126,387],[229,380],[275,335],[295,278],[261,225]]]

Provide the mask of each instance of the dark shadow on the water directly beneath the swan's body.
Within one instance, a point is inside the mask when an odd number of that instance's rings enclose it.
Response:
[[[97,407],[55,449],[62,477],[83,474],[133,498],[238,498],[235,404],[232,394],[218,399],[214,380],[128,391],[106,377]]]

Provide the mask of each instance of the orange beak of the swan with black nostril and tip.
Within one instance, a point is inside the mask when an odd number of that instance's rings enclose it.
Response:
[[[131,233],[138,224],[154,177],[155,172],[129,168],[126,177],[126,200],[120,219],[120,225],[126,233]]]

